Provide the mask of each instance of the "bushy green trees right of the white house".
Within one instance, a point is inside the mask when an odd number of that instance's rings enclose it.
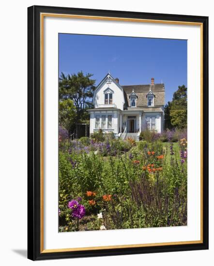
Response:
[[[178,86],[178,90],[174,92],[171,102],[165,105],[166,128],[187,127],[187,88]]]

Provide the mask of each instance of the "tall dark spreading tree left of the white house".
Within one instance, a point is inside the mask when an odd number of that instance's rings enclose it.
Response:
[[[86,109],[92,107],[92,97],[95,89],[95,80],[91,79],[92,75],[84,75],[82,71],[71,75],[61,73],[59,97],[61,100],[73,100],[76,107],[76,121],[89,118]]]

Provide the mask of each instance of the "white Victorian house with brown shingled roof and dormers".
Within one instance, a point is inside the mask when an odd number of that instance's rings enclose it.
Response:
[[[107,74],[94,91],[90,113],[90,134],[102,129],[116,137],[138,139],[141,131],[161,133],[164,129],[164,84],[119,84],[118,78]]]

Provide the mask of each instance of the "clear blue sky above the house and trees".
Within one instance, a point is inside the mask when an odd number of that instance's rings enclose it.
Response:
[[[121,85],[165,84],[165,102],[178,86],[187,85],[187,41],[78,34],[59,34],[59,73],[93,74],[98,85],[104,76]]]

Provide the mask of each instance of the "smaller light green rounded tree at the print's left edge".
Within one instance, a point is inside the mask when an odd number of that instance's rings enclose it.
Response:
[[[71,99],[59,102],[59,125],[68,132],[72,132],[76,122],[76,107]]]

